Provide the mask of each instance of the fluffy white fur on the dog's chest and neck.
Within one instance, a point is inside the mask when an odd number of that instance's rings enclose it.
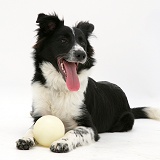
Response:
[[[68,90],[66,83],[51,63],[45,62],[41,66],[46,79],[46,85],[34,82],[32,116],[52,114],[59,117],[65,125],[66,131],[76,127],[74,117],[81,115],[84,92],[88,84],[88,70],[79,74],[80,89],[77,92]]]

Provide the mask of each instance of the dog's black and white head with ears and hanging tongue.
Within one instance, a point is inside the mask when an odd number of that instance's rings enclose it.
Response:
[[[67,87],[77,91],[80,87],[78,74],[94,65],[93,48],[88,38],[93,24],[79,22],[75,27],[64,25],[56,14],[38,15],[38,39],[34,46],[39,62],[50,62],[62,74]]]

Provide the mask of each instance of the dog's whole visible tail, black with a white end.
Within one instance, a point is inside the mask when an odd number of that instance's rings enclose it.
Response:
[[[137,107],[132,108],[132,113],[135,119],[148,118],[160,121],[160,109],[152,107]]]

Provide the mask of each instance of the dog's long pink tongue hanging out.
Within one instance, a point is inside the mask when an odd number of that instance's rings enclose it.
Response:
[[[66,71],[66,84],[70,91],[78,91],[80,88],[80,83],[77,75],[76,64],[63,61],[65,71]]]

